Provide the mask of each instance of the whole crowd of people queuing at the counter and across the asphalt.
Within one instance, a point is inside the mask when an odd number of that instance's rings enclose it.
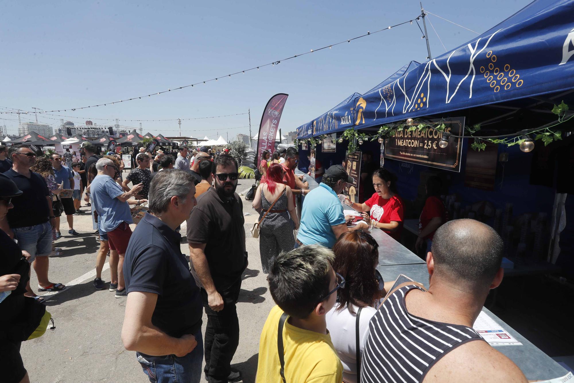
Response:
[[[29,336],[15,329],[29,307],[43,307],[29,284],[30,264],[39,291],[66,288],[48,278],[49,255],[60,251],[53,242],[61,213],[68,235],[77,235],[73,216],[83,187],[100,241],[94,288],[106,286],[109,253],[109,290],[127,298],[121,339],[135,351],[142,373],[152,382],[199,382],[202,375],[210,382],[242,380],[231,368],[248,263],[238,163],[201,149],[191,160],[187,147],[176,159],[159,152],[152,160],[144,148],[122,179],[121,159],[111,152],[98,158],[89,143],[82,147],[84,166],[72,162],[71,168],[58,154],[37,157],[28,145],[7,154],[0,147],[0,165],[12,162],[0,175],[0,246],[6,252],[0,308],[9,312],[1,321],[6,346],[0,352],[11,366],[7,381],[29,381],[20,356]],[[428,250],[429,288],[423,281],[384,281],[377,266],[385,249],[369,230],[394,238],[400,233],[404,208],[394,175],[374,169],[374,193],[358,204],[341,197],[352,181],[343,166],[324,170],[320,185],[309,190],[305,177],[294,173],[296,148],[277,156],[263,158],[264,178],[253,201],[262,271],[276,303],[261,332],[257,382],[526,381],[472,329],[503,275],[502,240],[492,228],[449,221],[436,201],[440,185],[429,180],[417,242]],[[79,191],[60,196],[68,190]],[[297,195],[305,196],[300,218]],[[148,211],[132,232],[130,205],[144,203]],[[343,205],[362,212],[361,220],[345,216]],[[184,221],[189,260],[181,252]],[[38,315],[27,319],[28,327],[37,325]],[[490,368],[469,369],[469,361]]]

